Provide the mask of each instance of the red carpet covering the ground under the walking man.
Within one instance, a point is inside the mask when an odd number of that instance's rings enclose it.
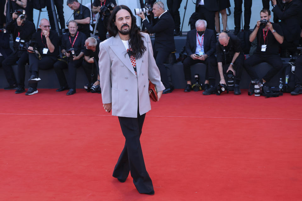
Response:
[[[152,103],[141,137],[150,196],[112,177],[124,137],[101,95],[1,89],[0,200],[301,200],[302,95],[242,92]]]

